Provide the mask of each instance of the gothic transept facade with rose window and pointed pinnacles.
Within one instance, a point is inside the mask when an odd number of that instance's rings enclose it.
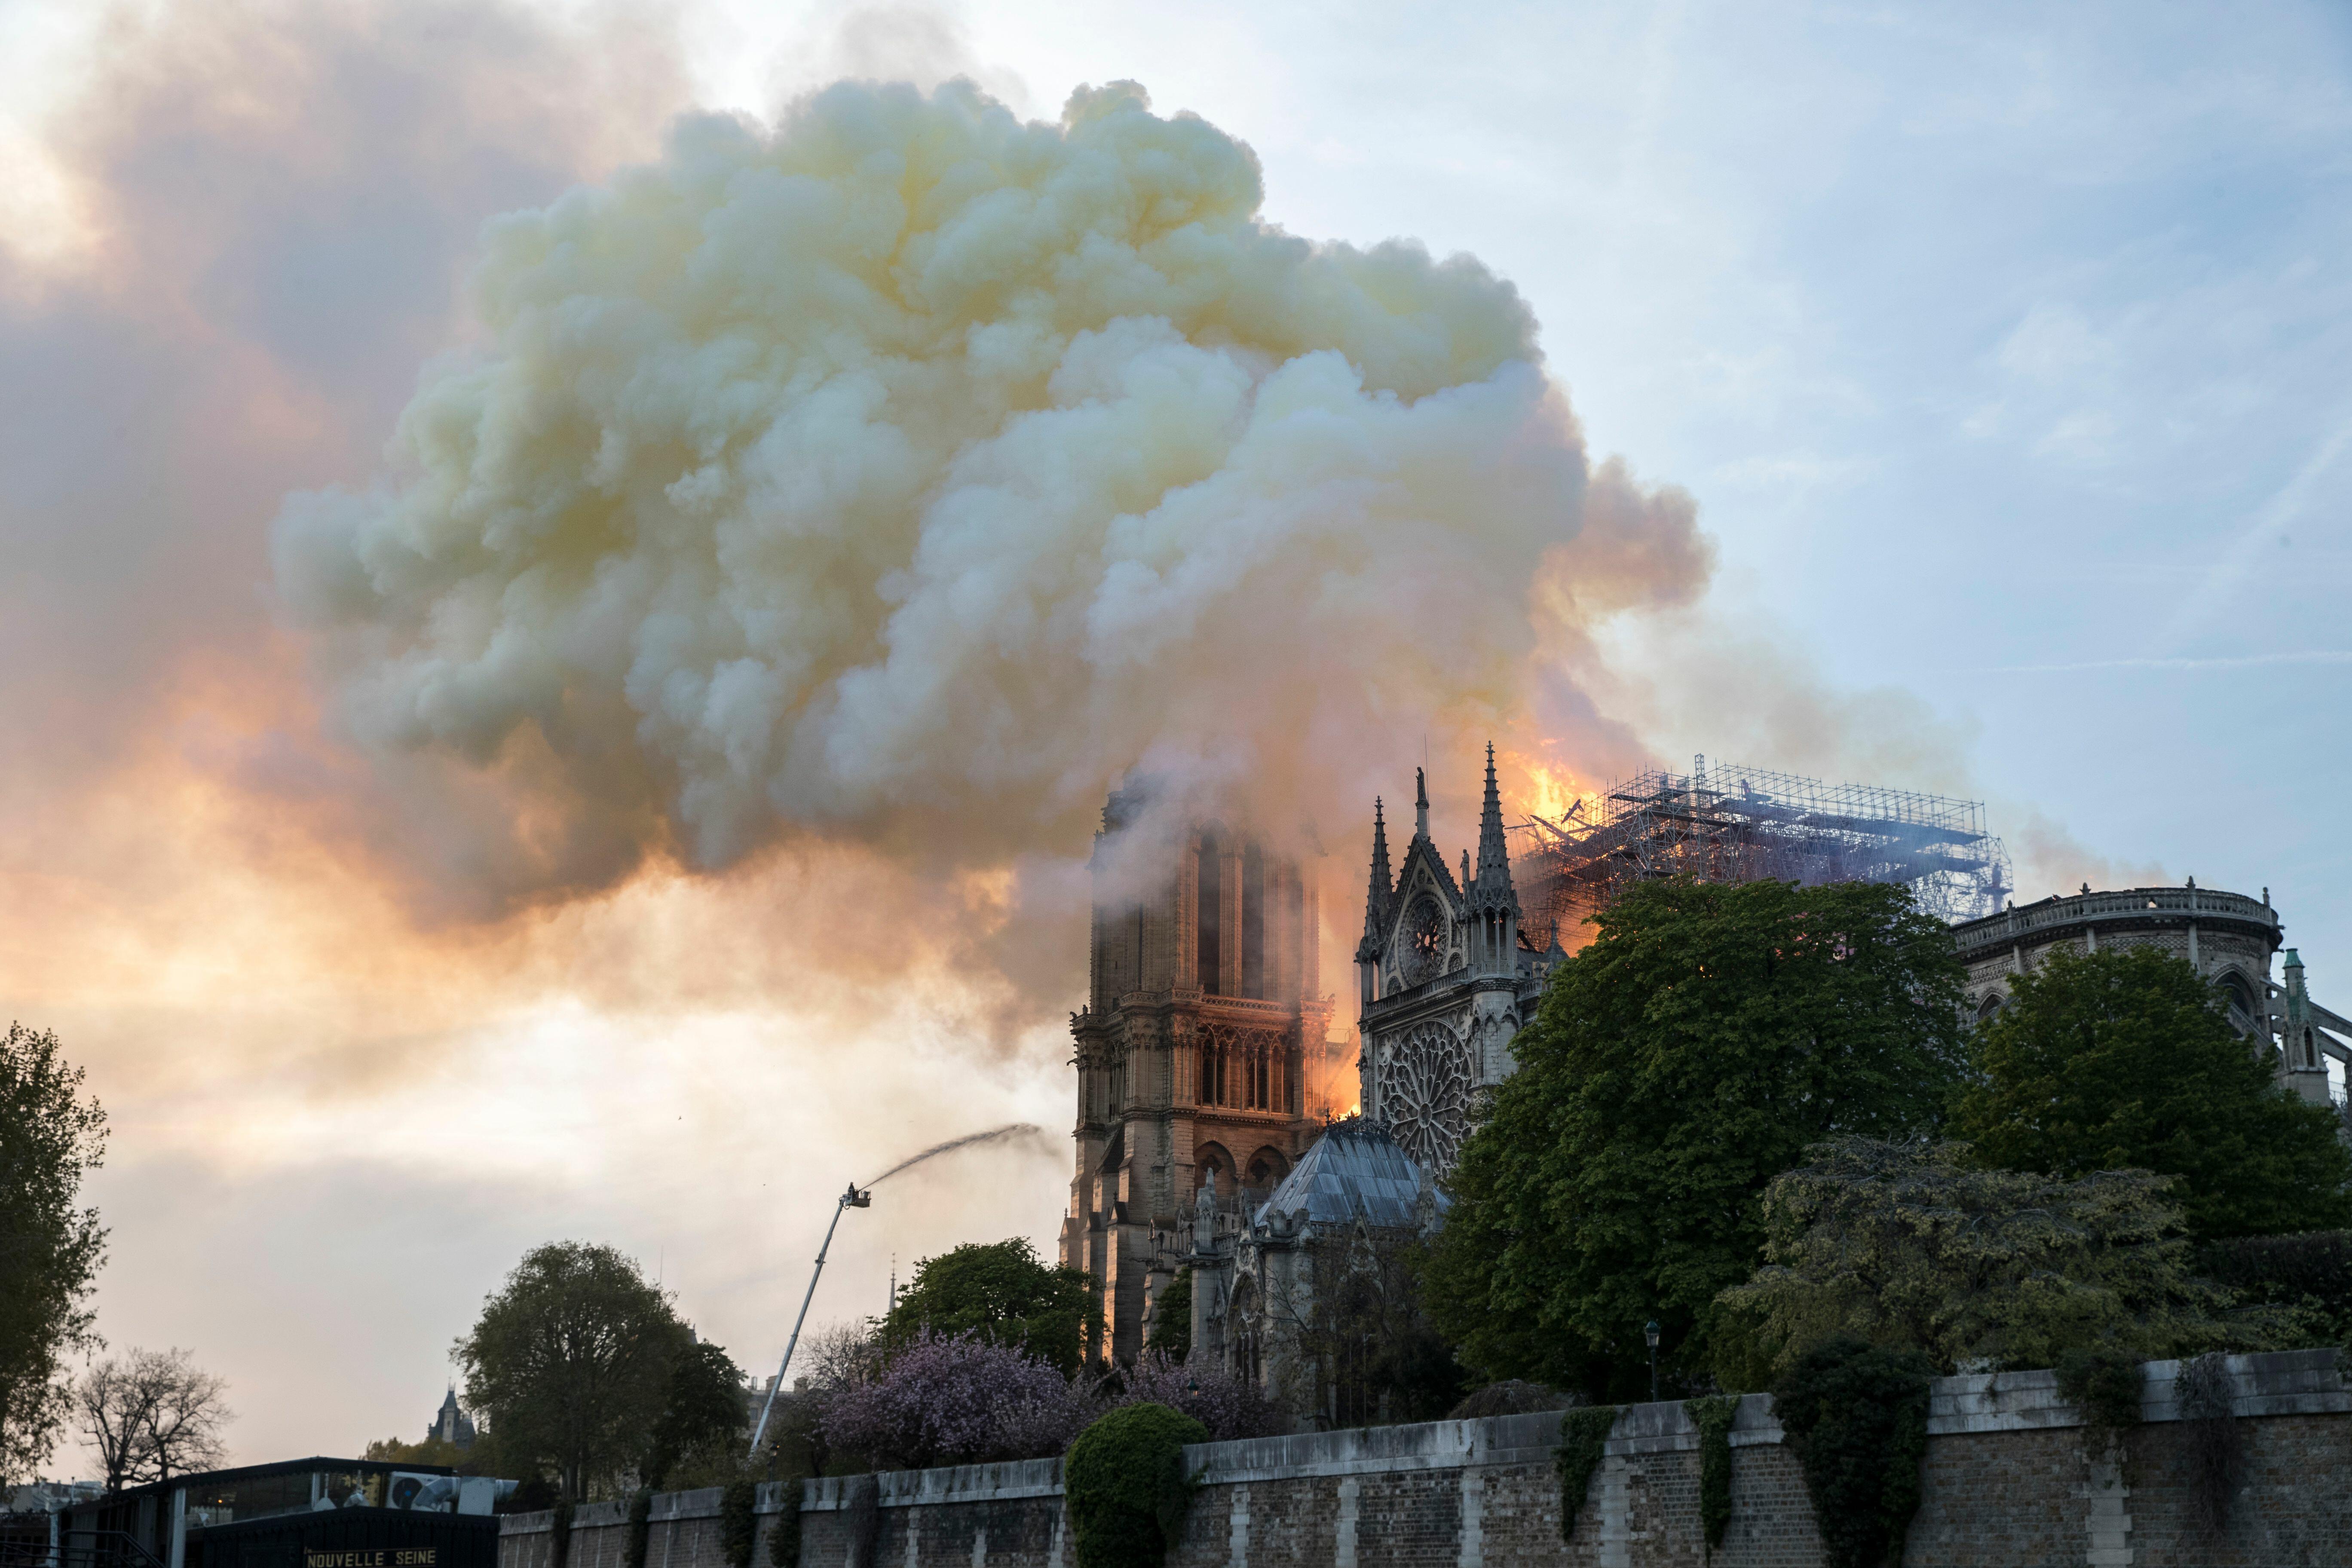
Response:
[[[1519,940],[1503,797],[1486,748],[1477,870],[1461,882],[1430,839],[1428,783],[1414,776],[1414,842],[1388,872],[1388,823],[1371,809],[1371,889],[1355,950],[1364,1056],[1364,1114],[1383,1121],[1421,1168],[1444,1175],[1470,1133],[1479,1088],[1512,1070],[1510,1037],[1534,1018],[1550,966],[1564,959]]]

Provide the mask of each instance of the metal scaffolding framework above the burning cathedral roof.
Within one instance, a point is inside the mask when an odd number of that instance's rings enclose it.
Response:
[[[2009,853],[1973,799],[1832,785],[1696,757],[1689,773],[1644,769],[1562,818],[1512,825],[1524,867],[1526,936],[1576,929],[1632,882],[1886,882],[1945,922],[1997,914]]]

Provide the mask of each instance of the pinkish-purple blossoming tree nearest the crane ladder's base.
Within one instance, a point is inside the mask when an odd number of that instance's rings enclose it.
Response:
[[[870,1382],[833,1394],[821,1425],[835,1450],[924,1469],[1061,1453],[1096,1408],[1080,1385],[1011,1345],[924,1328]]]

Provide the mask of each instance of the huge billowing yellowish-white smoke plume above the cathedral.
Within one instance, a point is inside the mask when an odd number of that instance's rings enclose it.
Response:
[[[1258,200],[1134,85],[840,85],[499,221],[393,473],[278,522],[341,722],[524,898],[1068,853],[1136,766],[1355,825],[1423,736],[1526,752],[1590,623],[1703,583],[1691,505],[1588,463],[1508,282]]]

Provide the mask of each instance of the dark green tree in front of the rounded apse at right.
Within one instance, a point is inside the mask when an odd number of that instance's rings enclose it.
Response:
[[[1978,1030],[1976,1065],[1955,1131],[1990,1166],[2178,1175],[2199,1239],[2352,1225],[2336,1112],[2281,1088],[2169,952],[2053,952]]]

